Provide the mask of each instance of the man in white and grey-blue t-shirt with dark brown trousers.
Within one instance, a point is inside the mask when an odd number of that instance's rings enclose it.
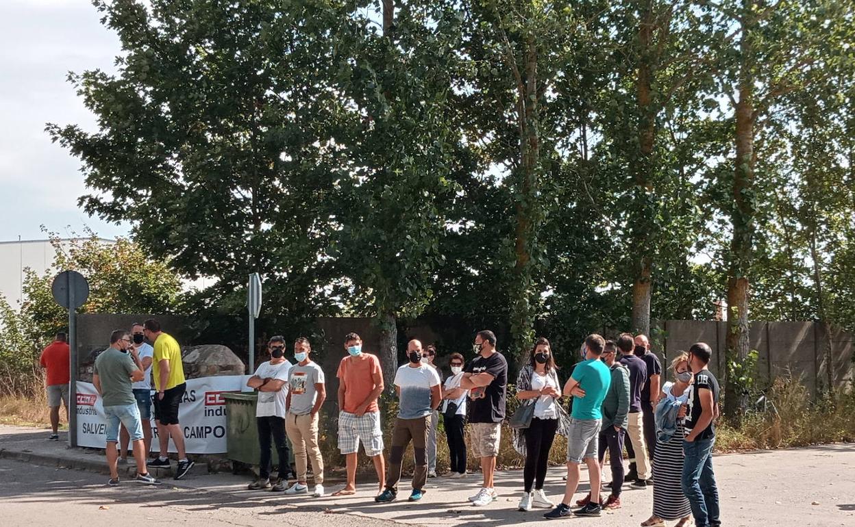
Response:
[[[422,343],[411,340],[407,344],[409,364],[398,368],[395,373],[395,390],[398,392],[398,419],[392,429],[392,450],[389,453],[389,473],[386,489],[374,501],[386,503],[398,495],[398,480],[401,478],[401,462],[404,450],[413,442],[416,467],[413,471],[413,491],[410,501],[419,501],[428,483],[428,430],[433,411],[442,401],[439,389],[439,374],[436,368],[422,362]]]

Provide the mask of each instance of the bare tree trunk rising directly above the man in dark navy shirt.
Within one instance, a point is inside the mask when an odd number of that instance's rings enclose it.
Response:
[[[634,331],[650,335],[650,304],[652,295],[652,253],[650,239],[653,219],[645,206],[646,194],[652,190],[653,147],[656,140],[656,109],[652,101],[654,75],[654,51],[652,50],[653,27],[655,24],[652,0],[642,3],[639,24],[639,67],[636,79],[635,98],[639,110],[639,156],[635,173],[636,210],[641,217],[634,225],[632,251],[637,260],[634,264],[632,327]]]

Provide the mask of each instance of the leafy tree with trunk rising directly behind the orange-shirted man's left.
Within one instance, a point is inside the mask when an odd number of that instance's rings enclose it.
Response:
[[[332,255],[340,296],[380,327],[386,386],[398,369],[398,317],[421,314],[444,265],[439,241],[463,151],[451,125],[451,72],[460,22],[451,3],[382,4],[382,31],[353,15],[343,32],[349,61],[337,91],[351,128],[340,139]]]

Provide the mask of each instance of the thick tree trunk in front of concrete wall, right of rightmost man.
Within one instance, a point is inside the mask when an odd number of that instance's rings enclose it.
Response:
[[[743,9],[743,37],[740,43],[741,63],[736,102],[736,166],[731,213],[733,239],[730,243],[728,268],[728,335],[725,364],[742,364],[749,351],[748,294],[749,272],[752,263],[755,205],[754,186],[754,78],[752,74],[752,6],[746,0]],[[726,366],[724,411],[734,422],[739,422],[745,410],[744,386]]]

